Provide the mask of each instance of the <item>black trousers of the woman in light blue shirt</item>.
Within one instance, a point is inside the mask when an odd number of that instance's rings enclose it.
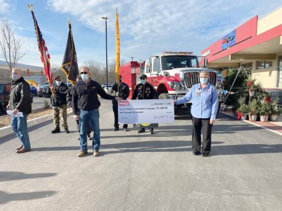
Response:
[[[211,128],[210,118],[201,119],[192,116],[193,136],[192,150],[193,152],[209,153],[211,151]],[[203,146],[201,150],[201,130],[203,129]]]

